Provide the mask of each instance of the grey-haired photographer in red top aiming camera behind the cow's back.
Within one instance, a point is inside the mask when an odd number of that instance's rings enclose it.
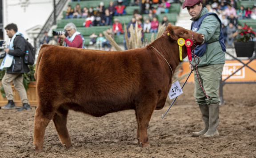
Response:
[[[67,35],[65,35],[64,32],[62,33],[62,35],[59,35],[60,39],[58,40],[58,43],[60,44],[60,46],[76,47],[76,48],[84,47],[84,38],[80,32],[76,31],[75,24],[73,23],[66,24],[66,26],[64,27],[64,30]]]

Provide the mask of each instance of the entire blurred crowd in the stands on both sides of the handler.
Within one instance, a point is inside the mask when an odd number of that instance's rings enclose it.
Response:
[[[97,7],[93,8],[90,6],[80,6],[80,0],[77,1],[78,3],[74,8],[72,8],[71,5],[68,6],[65,18],[84,18],[84,27],[110,26],[108,34],[112,37],[124,34],[124,24],[121,24],[116,17],[126,15],[126,7],[140,5],[140,0],[113,0],[109,2],[108,7],[105,7],[104,2],[100,2]],[[141,0],[141,12],[135,9],[131,21],[126,25],[125,29],[128,31],[128,37],[130,25],[135,27],[136,22],[138,23],[139,30],[142,31],[142,39],[144,33],[156,33],[159,24],[165,24],[167,26],[170,23],[167,17],[164,16],[163,19],[157,19],[157,15],[170,12],[172,3],[182,3],[182,1],[183,0]],[[236,9],[236,1],[237,0],[203,0],[204,7],[206,7],[209,12],[215,12],[219,16],[222,22],[227,47],[233,47],[233,41],[235,40],[238,29],[242,28],[242,26],[238,24],[238,20],[256,19],[256,4],[247,8],[241,5],[239,9]],[[95,35],[92,33],[90,39],[91,44],[96,44],[98,49],[104,49],[104,46],[107,46],[107,50],[111,50],[111,45],[109,41],[103,37],[103,34]],[[123,43],[125,47],[125,41]]]

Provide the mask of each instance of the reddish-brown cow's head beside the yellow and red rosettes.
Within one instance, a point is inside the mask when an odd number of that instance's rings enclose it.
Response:
[[[192,32],[191,30],[187,30],[179,26],[172,26],[171,24],[169,24],[165,31],[167,32],[168,38],[170,40],[177,41],[180,38],[183,38],[184,40],[187,40],[187,39],[192,40],[193,41],[192,48],[204,43],[203,34]]]

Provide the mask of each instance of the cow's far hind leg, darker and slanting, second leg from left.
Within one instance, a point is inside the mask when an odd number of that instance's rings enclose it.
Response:
[[[55,128],[58,132],[60,142],[66,146],[66,150],[72,148],[72,143],[67,129],[68,110],[59,108],[53,117]]]

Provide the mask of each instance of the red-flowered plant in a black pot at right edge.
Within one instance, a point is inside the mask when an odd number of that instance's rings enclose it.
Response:
[[[244,24],[243,28],[238,29],[236,35],[237,42],[234,42],[237,57],[252,57],[255,44],[252,41],[253,36],[255,36],[255,32],[247,24]]]

